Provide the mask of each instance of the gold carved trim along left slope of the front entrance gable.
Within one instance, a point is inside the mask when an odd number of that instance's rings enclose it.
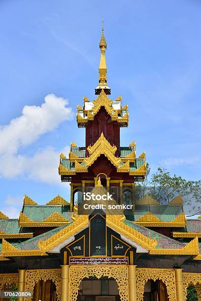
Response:
[[[79,217],[68,226],[58,231],[45,241],[39,241],[38,247],[41,252],[48,252],[57,246],[60,242],[80,232],[88,225],[88,215],[79,215]]]

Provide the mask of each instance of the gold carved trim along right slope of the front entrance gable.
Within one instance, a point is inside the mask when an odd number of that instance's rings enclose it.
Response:
[[[150,240],[145,235],[124,224],[124,218],[124,215],[107,215],[106,223],[110,228],[115,229],[118,233],[120,232],[132,241],[137,242],[145,249],[153,250],[157,245],[157,241],[155,239]]]

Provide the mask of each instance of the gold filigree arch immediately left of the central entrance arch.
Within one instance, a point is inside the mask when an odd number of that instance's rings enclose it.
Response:
[[[39,281],[52,280],[56,285],[57,300],[60,300],[61,294],[61,270],[27,270],[26,271],[26,285],[25,291],[33,292],[35,284]],[[30,298],[25,300],[31,301]]]

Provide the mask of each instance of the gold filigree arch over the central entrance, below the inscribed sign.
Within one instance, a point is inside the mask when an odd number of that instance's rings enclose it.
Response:
[[[114,278],[118,284],[118,292],[121,301],[128,301],[128,267],[81,267],[70,266],[69,300],[76,301],[82,279],[96,277]]]

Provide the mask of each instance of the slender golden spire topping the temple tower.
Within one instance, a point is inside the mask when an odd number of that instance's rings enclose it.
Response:
[[[107,76],[106,76],[107,66],[105,60],[105,50],[107,49],[107,43],[105,40],[103,27],[102,27],[102,36],[100,39],[99,48],[101,51],[100,64],[99,64],[99,83],[98,83],[98,87],[95,89],[95,94],[100,94],[102,89],[104,89],[106,94],[110,94],[110,88],[108,87],[107,84]]]

